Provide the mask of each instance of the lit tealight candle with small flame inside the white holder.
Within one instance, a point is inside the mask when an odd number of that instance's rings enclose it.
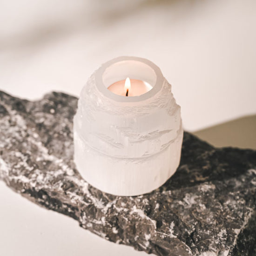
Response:
[[[117,81],[108,87],[109,91],[121,96],[139,96],[147,93],[151,89],[152,86],[149,83],[129,78]]]

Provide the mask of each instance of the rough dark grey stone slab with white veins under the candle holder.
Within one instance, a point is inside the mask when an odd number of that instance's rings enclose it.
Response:
[[[148,253],[256,255],[256,151],[213,148],[185,133],[180,167],[161,188],[108,195],[75,169],[76,106],[67,94],[31,102],[0,92],[0,179],[11,189]]]

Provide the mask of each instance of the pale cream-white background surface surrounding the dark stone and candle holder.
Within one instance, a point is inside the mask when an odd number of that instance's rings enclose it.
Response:
[[[255,0],[2,0],[0,89],[28,99],[79,95],[120,55],[162,69],[184,128],[256,113]],[[0,182],[0,255],[146,255],[41,209]]]

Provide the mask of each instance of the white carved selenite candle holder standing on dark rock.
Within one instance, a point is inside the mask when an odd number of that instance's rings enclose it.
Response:
[[[140,96],[108,87],[127,77],[152,89]],[[103,64],[81,91],[74,116],[74,162],[92,186],[113,195],[141,195],[160,187],[179,165],[180,106],[159,67],[119,57]]]

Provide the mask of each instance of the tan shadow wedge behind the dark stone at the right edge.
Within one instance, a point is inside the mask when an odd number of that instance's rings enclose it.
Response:
[[[256,115],[215,125],[194,133],[216,147],[256,149]]]

